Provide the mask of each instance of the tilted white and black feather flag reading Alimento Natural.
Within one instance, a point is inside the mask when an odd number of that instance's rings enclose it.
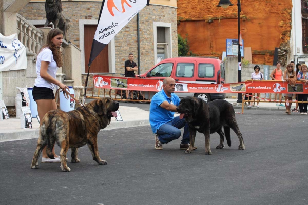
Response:
[[[149,0],[103,0],[88,66]]]

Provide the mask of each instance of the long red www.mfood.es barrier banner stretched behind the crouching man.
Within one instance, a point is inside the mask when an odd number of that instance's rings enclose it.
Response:
[[[145,79],[93,75],[96,88],[158,92],[163,88],[162,79]],[[298,93],[308,94],[308,86],[297,82],[294,87],[286,81],[254,80],[230,84],[176,82],[175,92],[188,93]]]

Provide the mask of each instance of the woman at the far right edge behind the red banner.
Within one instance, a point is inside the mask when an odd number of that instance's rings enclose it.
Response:
[[[308,73],[307,73],[307,65],[302,64],[301,65],[301,71],[297,74],[297,80],[304,82],[305,86],[308,85]],[[307,107],[308,104],[306,103],[300,103],[301,101],[307,101],[308,100],[308,94],[297,94],[297,100],[298,100],[298,107],[301,115],[307,115]]]

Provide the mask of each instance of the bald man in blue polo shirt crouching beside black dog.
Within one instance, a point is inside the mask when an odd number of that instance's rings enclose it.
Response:
[[[181,136],[179,129],[184,127],[183,139],[180,149],[189,147],[189,126],[185,119],[180,116],[174,117],[177,106],[180,104],[180,98],[174,93],[176,81],[171,77],[163,80],[163,89],[156,93],[150,104],[150,125],[155,136],[155,149],[162,150],[163,144]],[[194,147],[194,150],[197,147]]]

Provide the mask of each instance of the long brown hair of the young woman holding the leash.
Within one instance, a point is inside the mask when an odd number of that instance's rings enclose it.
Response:
[[[42,47],[42,49],[40,50],[40,52],[44,49],[44,48],[49,48],[52,51],[52,55],[53,55],[53,59],[57,65],[57,67],[62,67],[63,65],[63,61],[62,61],[62,52],[60,50],[60,48],[57,48],[53,43],[52,43],[52,38],[54,36],[57,35],[63,35],[63,32],[60,29],[52,29],[49,31],[48,35],[47,35],[47,40],[46,40],[46,44]]]

